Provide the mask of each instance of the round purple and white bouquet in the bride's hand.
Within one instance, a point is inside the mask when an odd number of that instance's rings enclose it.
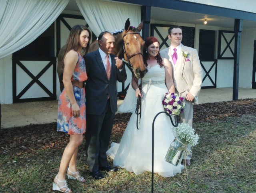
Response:
[[[166,93],[162,104],[164,105],[164,110],[170,115],[180,114],[186,106],[184,97],[179,97],[176,93]]]

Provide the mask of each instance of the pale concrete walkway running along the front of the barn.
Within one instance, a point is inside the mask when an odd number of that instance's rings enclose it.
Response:
[[[202,89],[199,103],[231,101],[232,88]],[[256,89],[239,88],[239,99],[256,98]],[[123,100],[118,100],[118,106]],[[58,100],[2,104],[1,128],[57,121]]]

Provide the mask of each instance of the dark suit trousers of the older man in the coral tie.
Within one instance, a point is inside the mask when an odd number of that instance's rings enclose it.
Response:
[[[115,114],[110,107],[110,99],[100,115],[86,114],[86,157],[89,171],[98,171],[108,165],[106,151],[112,132]]]

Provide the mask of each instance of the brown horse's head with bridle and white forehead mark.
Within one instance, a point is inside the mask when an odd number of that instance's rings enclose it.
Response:
[[[120,35],[120,38],[123,39],[122,49],[119,49],[117,54],[119,58],[124,57],[124,59],[128,61],[136,78],[144,77],[146,72],[142,54],[144,40],[140,36],[142,27],[143,22],[135,28],[130,26],[129,18],[126,20],[124,32]]]

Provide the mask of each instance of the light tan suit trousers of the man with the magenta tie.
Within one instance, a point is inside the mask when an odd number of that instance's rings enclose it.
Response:
[[[180,122],[182,123],[188,123],[190,126],[192,126],[193,122],[193,102],[185,100],[186,108],[183,110],[182,113],[180,113]],[[190,154],[186,154],[186,157],[184,159],[190,160],[192,158],[192,151],[190,146],[187,146],[188,150],[190,151]]]

